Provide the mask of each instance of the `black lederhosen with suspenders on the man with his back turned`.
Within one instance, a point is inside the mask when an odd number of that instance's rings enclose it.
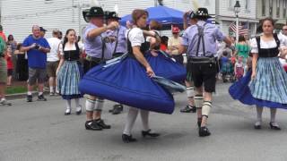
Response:
[[[204,23],[205,26],[206,23]],[[204,47],[204,26],[200,27],[196,24],[198,29],[198,41],[196,48],[196,56],[188,57],[187,72],[191,72],[192,80],[196,88],[204,84],[204,91],[214,92],[216,83],[216,74],[218,72],[217,58],[213,56],[205,56]],[[203,44],[203,57],[198,56],[200,44]]]

